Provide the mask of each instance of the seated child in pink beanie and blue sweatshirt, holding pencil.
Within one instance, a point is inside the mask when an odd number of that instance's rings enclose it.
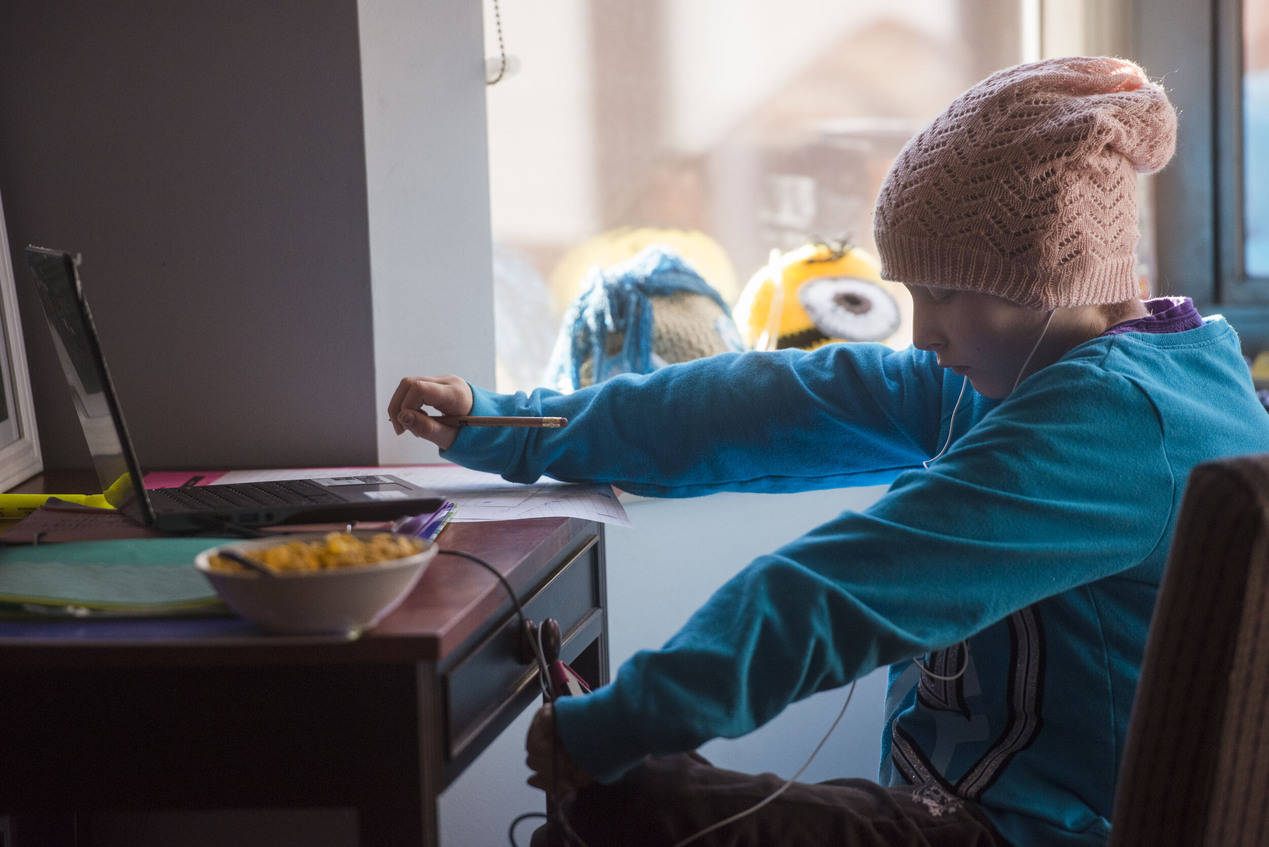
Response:
[[[1136,173],[1176,118],[1136,65],[1000,71],[905,147],[877,201],[914,347],[723,354],[570,396],[405,380],[445,458],[659,497],[893,481],[754,561],[660,650],[529,733],[589,847],[674,844],[775,790],[685,753],[890,665],[879,784],[794,785],[698,844],[1104,844],[1190,469],[1269,451],[1233,330],[1136,300]],[[562,415],[463,429],[419,415]],[[562,749],[552,750],[555,724]]]

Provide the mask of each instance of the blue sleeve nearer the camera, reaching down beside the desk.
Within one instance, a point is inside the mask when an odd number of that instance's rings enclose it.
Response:
[[[1023,387],[930,470],[758,559],[662,649],[560,701],[574,759],[608,782],[646,754],[744,735],[1166,544],[1179,489],[1150,400],[1079,364]]]

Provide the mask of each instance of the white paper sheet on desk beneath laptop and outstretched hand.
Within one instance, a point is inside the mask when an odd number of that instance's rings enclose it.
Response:
[[[532,485],[508,483],[496,474],[473,471],[458,465],[414,465],[409,467],[311,467],[305,470],[228,471],[217,485],[269,483],[287,479],[362,476],[391,474],[426,488],[458,505],[456,522],[516,521],[522,518],[585,518],[629,527],[626,509],[612,485],[575,485],[541,479]],[[150,485],[150,477],[146,477]]]

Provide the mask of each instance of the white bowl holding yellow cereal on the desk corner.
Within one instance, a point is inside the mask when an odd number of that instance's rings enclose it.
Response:
[[[428,563],[437,555],[437,545],[424,541],[423,551],[412,556],[388,559],[373,565],[282,573],[275,577],[249,570],[226,574],[212,570],[208,564],[222,550],[245,555],[291,541],[322,541],[326,535],[297,532],[222,544],[198,554],[194,566],[203,571],[230,608],[264,630],[284,635],[357,635],[387,617],[410,593]],[[353,535],[369,541],[381,533],[355,530]]]

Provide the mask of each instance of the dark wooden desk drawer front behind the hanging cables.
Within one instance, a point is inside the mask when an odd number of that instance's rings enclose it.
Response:
[[[544,585],[523,599],[524,613],[532,621],[553,617],[560,622],[565,646],[561,658],[571,660],[599,635],[600,608],[599,536],[590,536],[581,547],[563,556]],[[453,668],[443,674],[448,712],[447,749],[449,758],[485,726],[503,716],[530,686],[537,691],[537,668],[519,663],[519,620],[515,613]],[[519,705],[523,709],[523,702]]]

